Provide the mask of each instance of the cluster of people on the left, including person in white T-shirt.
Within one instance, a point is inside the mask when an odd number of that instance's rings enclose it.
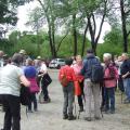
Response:
[[[0,51],[0,104],[5,113],[1,130],[21,130],[21,87],[27,87],[29,92],[27,112],[37,112],[36,94],[40,88],[43,94],[42,103],[50,102],[50,82],[46,81],[49,77],[48,69],[40,56],[32,61],[25,50],[21,50],[9,60],[4,60],[3,55],[3,51]]]

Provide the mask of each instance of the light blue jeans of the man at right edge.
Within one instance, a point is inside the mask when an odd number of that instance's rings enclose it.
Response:
[[[127,95],[127,100],[130,101],[130,78],[123,79],[123,87],[125,87],[125,93]]]

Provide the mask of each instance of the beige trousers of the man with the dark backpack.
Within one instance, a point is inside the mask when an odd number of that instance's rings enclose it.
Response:
[[[90,79],[84,80],[84,99],[86,99],[86,117],[91,117],[92,107],[94,102],[94,117],[101,117],[101,88],[100,83],[93,83]],[[92,100],[93,98],[93,100]]]

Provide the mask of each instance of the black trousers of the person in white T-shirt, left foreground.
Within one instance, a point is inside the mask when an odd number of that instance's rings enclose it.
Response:
[[[21,104],[20,98],[10,94],[0,94],[4,107],[4,130],[21,130]]]

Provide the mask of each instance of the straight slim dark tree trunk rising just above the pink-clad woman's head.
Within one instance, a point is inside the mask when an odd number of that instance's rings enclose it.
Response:
[[[77,55],[76,14],[73,15],[74,56]]]

